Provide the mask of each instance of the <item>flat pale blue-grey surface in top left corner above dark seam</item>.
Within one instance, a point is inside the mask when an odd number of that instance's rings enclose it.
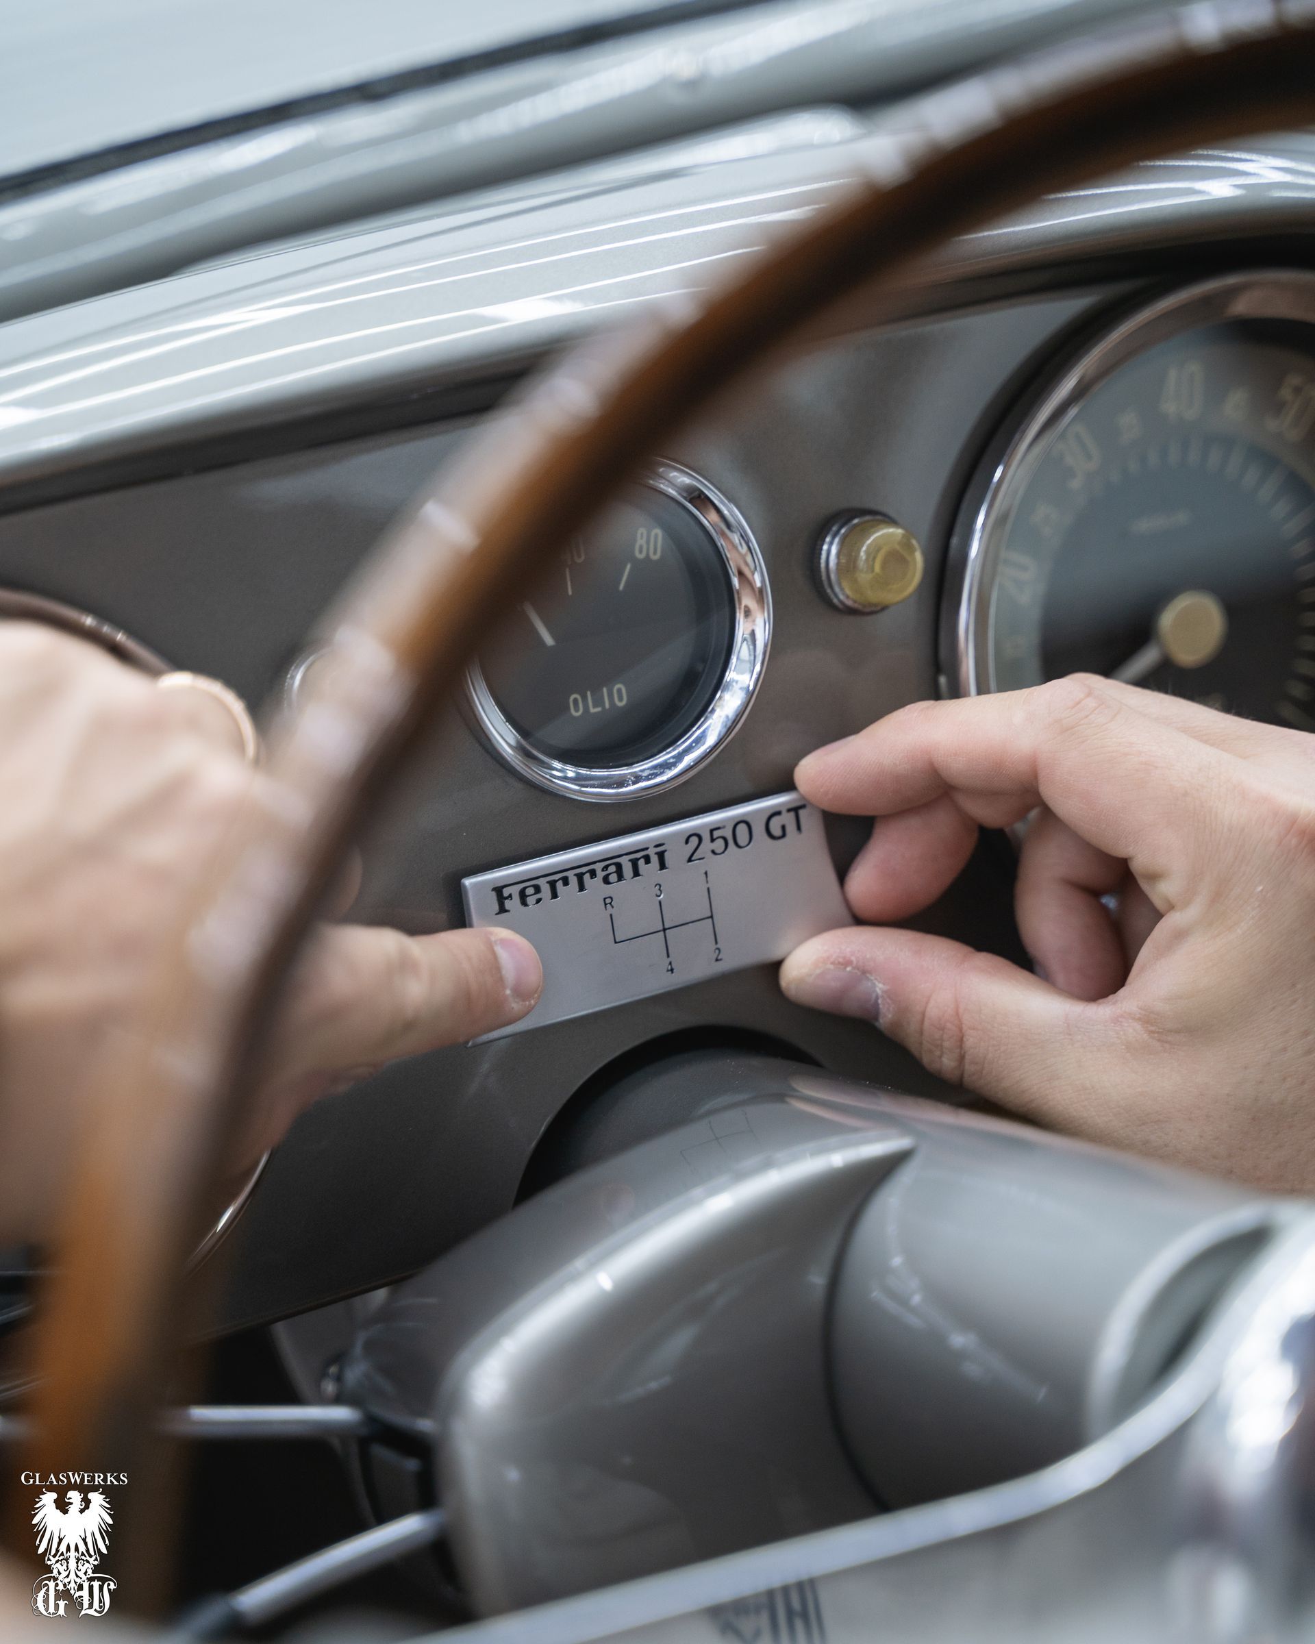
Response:
[[[375,95],[375,82],[394,77],[436,84],[743,3],[54,0],[5,7],[0,166],[18,176],[347,87],[371,87]]]

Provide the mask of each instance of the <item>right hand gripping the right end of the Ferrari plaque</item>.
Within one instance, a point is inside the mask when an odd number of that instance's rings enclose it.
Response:
[[[1037,975],[860,926],[791,954],[792,1000],[1078,1136],[1315,1189],[1313,738],[1080,676],[902,709],[797,783],[878,819],[845,884],[878,927],[950,884],[978,825],[1040,807],[1016,889]]]

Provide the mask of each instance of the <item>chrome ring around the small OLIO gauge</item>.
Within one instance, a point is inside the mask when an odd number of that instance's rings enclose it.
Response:
[[[717,694],[699,720],[661,753],[634,764],[588,766],[554,760],[531,746],[498,707],[478,661],[467,669],[470,707],[498,758],[518,776],[572,799],[613,802],[658,794],[684,783],[740,728],[763,682],[771,648],[768,569],[743,515],[707,480],[674,462],[648,469],[643,485],[694,513],[722,557],[735,608],[730,658]]]

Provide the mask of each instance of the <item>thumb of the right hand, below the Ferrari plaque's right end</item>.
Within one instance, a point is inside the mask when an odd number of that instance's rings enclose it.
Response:
[[[814,937],[784,962],[781,986],[796,1004],[874,1023],[939,1078],[1064,1128],[1119,1055],[1101,1004],[917,931]]]

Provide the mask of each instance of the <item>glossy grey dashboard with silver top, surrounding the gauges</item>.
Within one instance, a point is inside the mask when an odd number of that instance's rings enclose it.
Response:
[[[526,368],[697,288],[814,210],[870,141],[847,113],[802,112],[12,322],[0,584],[90,610],[251,704],[276,699],[319,612]],[[353,917],[460,924],[465,875],[777,792],[817,743],[942,690],[955,520],[1011,408],[1133,301],[1218,270],[1308,265],[1312,161],[1315,145],[1289,136],[1044,202],[929,271],[922,316],[884,332],[861,309],[837,316],[654,454],[727,496],[766,564],[774,633],[743,727],[681,786],[598,807],[528,786],[454,700],[363,845]],[[927,575],[906,603],[853,616],[820,595],[815,543],[845,508],[922,543]],[[832,825],[840,866],[861,837]],[[1022,957],[1003,840],[925,921]],[[786,1003],[773,967],[418,1057],[324,1101],[273,1156],[232,1235],[227,1322],[414,1271],[514,1202],[579,1092],[659,1042],[712,1034],[955,1095],[871,1028]]]

